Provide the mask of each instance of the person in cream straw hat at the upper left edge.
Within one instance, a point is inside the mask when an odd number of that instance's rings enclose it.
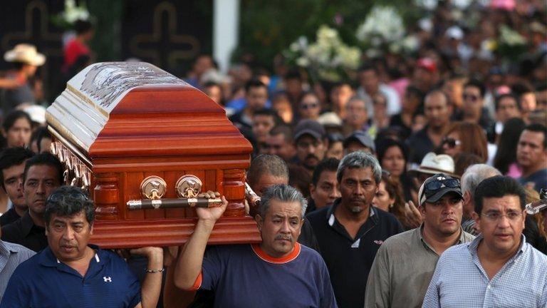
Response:
[[[8,113],[21,103],[34,103],[36,101],[28,79],[36,74],[38,66],[46,62],[46,56],[36,51],[36,46],[21,43],[10,51],[4,53],[6,62],[14,63],[15,69],[8,73],[7,78],[14,79],[21,86],[6,90],[2,111]]]

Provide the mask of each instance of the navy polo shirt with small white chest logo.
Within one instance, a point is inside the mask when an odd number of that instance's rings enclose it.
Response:
[[[135,307],[140,284],[124,260],[96,246],[85,277],[47,247],[21,263],[0,307]]]

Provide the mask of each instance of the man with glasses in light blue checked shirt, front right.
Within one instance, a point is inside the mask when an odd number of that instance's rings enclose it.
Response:
[[[437,262],[423,307],[547,307],[547,256],[526,242],[526,192],[513,178],[483,180],[474,195],[481,235]]]

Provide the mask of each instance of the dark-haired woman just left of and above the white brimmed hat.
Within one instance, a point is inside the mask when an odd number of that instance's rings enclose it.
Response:
[[[382,170],[388,171],[391,177],[402,185],[405,200],[412,200],[412,180],[407,175],[408,148],[405,143],[382,139],[378,140],[376,149]]]

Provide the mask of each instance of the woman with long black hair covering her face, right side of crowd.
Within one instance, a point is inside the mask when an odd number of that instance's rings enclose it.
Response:
[[[521,118],[510,118],[499,135],[494,167],[501,174],[509,175],[511,178],[521,177],[521,170],[516,165],[516,145],[519,143],[519,138],[525,127],[526,123]]]

